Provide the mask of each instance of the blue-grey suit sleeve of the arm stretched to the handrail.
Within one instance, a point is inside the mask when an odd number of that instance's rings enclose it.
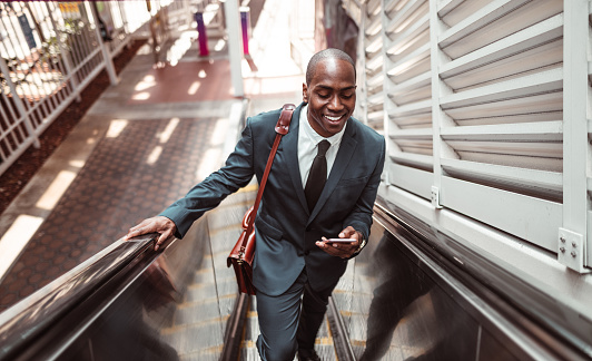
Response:
[[[226,164],[159,214],[175,223],[176,237],[182,238],[191,224],[206,211],[218,206],[224,198],[248,185],[253,178],[253,131],[249,120],[250,118]]]

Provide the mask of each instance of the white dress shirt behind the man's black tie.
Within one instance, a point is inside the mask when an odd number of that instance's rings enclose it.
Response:
[[[318,133],[313,129],[310,124],[308,124],[308,105],[303,106],[300,110],[300,129],[298,131],[298,167],[300,168],[303,188],[306,185],[308,173],[310,173],[310,166],[313,165],[313,160],[318,152],[317,145],[323,139],[326,139],[330,143],[330,147],[325,154],[325,157],[327,158],[327,177],[329,176],[346,127],[347,124],[345,127],[343,127],[342,131],[325,138],[318,135]]]

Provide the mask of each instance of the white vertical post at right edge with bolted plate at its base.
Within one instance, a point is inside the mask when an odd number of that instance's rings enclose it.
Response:
[[[558,260],[583,272],[588,240],[588,7],[564,0],[563,21],[563,227]]]

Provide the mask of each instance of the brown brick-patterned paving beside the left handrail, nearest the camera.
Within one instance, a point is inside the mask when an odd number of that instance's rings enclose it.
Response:
[[[66,273],[136,222],[162,211],[195,183],[215,118],[132,121],[100,140],[0,284],[3,309]],[[200,142],[201,139],[201,142]]]

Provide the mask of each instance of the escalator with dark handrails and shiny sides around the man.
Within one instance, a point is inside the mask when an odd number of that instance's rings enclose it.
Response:
[[[237,296],[226,266],[253,198],[228,197],[164,252],[150,236],[118,241],[1,313],[0,360],[258,360],[255,297]],[[588,323],[558,308],[379,201],[315,349],[323,360],[590,359]]]

